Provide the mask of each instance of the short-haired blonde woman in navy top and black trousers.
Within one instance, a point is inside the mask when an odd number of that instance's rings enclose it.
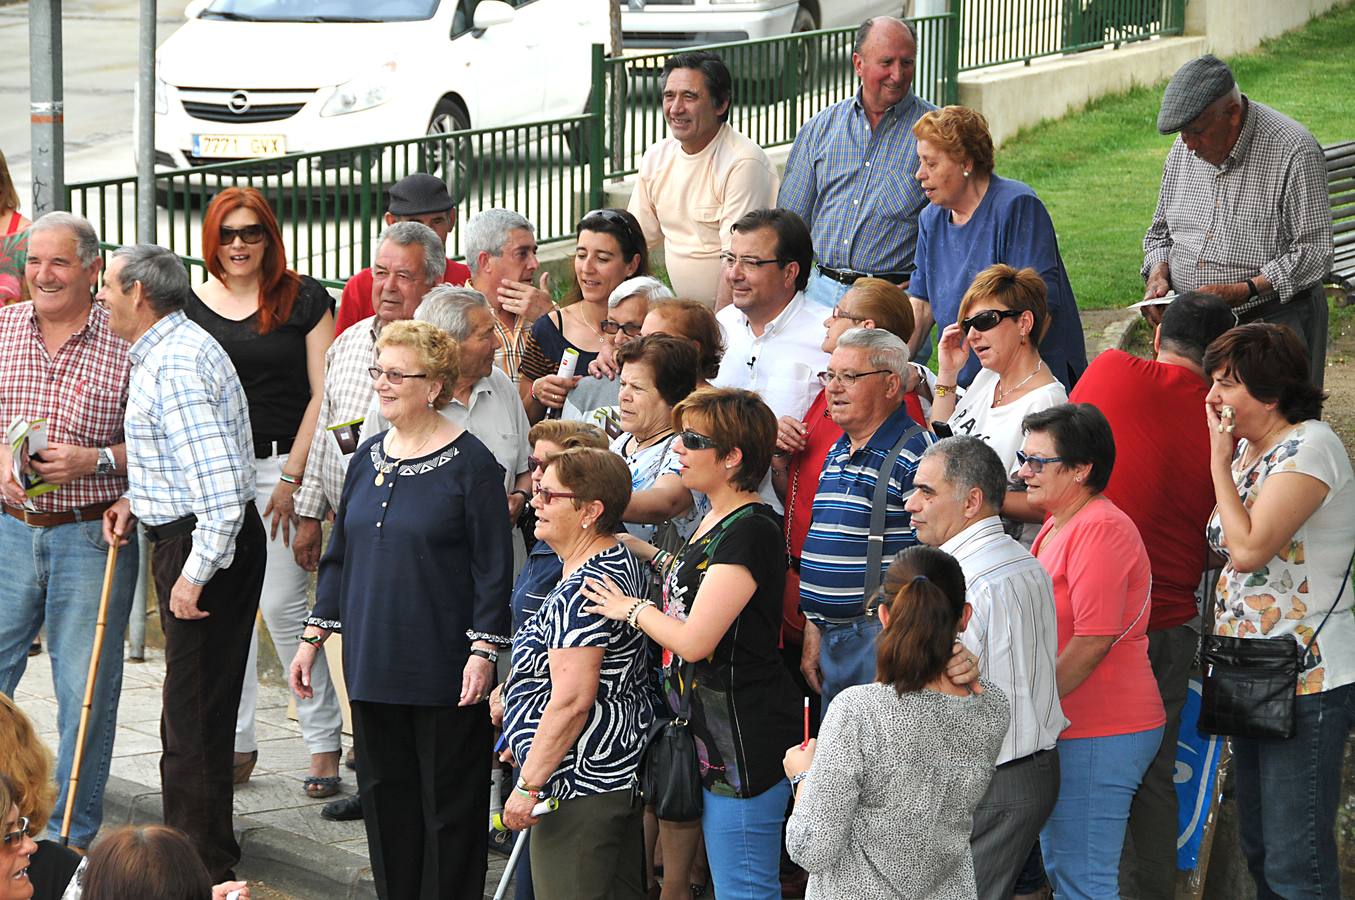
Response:
[[[343,632],[378,895],[480,896],[493,747],[485,701],[509,642],[503,469],[439,412],[461,374],[444,331],[385,325],[373,369],[390,430],[348,464],[289,683],[308,698],[320,645]]]

